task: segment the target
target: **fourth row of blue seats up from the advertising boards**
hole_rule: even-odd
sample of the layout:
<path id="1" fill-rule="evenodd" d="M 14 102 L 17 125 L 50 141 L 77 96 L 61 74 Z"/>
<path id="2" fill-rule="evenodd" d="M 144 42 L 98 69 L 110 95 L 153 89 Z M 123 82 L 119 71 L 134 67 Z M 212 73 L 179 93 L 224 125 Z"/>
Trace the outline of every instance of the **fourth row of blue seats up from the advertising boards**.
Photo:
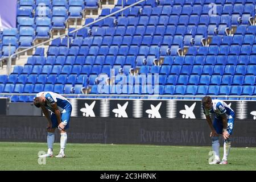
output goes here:
<path id="1" fill-rule="evenodd" d="M 114 64 L 118 65 L 135 65 L 136 64 L 141 64 L 145 63 L 146 65 L 153 64 L 154 61 L 156 60 L 154 55 L 149 55 L 149 56 L 139 56 L 139 59 L 135 59 L 134 55 L 97 55 L 97 56 L 83 56 L 83 55 L 59 55 L 59 56 L 48 56 L 47 59 L 44 56 L 31 56 L 27 60 L 27 65 L 53 65 L 53 64 L 60 64 L 60 65 L 83 65 L 83 64 L 88 64 L 88 65 L 93 65 L 93 64 L 98 64 L 98 65 L 103 65 L 103 64 L 109 64 L 113 66 Z M 247 65 L 247 64 L 255 64 L 255 58 L 256 55 L 241 55 L 241 56 L 236 56 L 236 55 L 186 55 L 186 56 L 166 56 L 164 58 L 164 63 L 165 65 L 183 65 L 183 64 L 200 64 L 200 65 Z"/>

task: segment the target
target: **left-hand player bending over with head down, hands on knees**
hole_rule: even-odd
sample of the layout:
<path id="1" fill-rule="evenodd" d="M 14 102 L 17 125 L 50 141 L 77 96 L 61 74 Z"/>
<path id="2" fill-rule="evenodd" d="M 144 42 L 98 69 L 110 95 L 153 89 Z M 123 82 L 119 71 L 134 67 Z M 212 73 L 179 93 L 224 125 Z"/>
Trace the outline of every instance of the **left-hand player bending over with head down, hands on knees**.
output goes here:
<path id="1" fill-rule="evenodd" d="M 71 117 L 72 105 L 63 96 L 53 92 L 40 92 L 36 94 L 34 98 L 34 105 L 36 107 L 41 107 L 44 115 L 48 120 L 47 126 L 47 144 L 48 151 L 45 155 L 40 155 L 39 157 L 52 157 L 53 156 L 53 143 L 54 143 L 54 133 L 56 127 L 60 130 L 60 152 L 56 155 L 56 158 L 64 158 L 64 149 L 67 143 L 67 132 L 69 127 L 69 119 Z M 51 115 L 49 111 L 51 111 Z"/>

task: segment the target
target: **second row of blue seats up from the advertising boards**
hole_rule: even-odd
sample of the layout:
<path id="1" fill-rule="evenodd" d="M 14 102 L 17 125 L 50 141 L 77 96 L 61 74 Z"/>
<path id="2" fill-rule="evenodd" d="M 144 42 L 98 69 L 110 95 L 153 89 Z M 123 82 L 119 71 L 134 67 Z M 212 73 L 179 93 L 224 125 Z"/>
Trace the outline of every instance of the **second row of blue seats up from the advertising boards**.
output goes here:
<path id="1" fill-rule="evenodd" d="M 104 69 L 104 68 L 103 68 Z M 152 67 L 152 70 L 159 69 Z M 255 68 L 254 68 L 255 69 Z M 141 69 L 142 70 L 142 69 Z M 165 68 L 160 69 L 160 75 L 151 75 L 152 79 L 154 78 L 155 81 L 152 82 L 152 85 L 155 85 L 156 79 L 159 79 L 157 81 L 157 84 L 160 85 L 166 85 L 166 84 L 172 84 L 172 85 L 254 85 L 255 84 L 255 76 L 253 73 L 242 75 L 240 73 L 235 73 L 234 75 L 231 75 L 230 73 L 225 73 L 224 75 L 219 75 L 218 73 L 213 75 L 208 75 L 208 73 L 203 73 L 202 75 L 197 75 L 197 73 L 191 73 L 191 75 L 186 75 L 185 73 L 180 73 L 177 75 L 176 73 L 170 73 L 170 75 L 164 72 Z M 153 72 L 153 71 L 152 71 Z M 144 78 L 146 75 L 149 75 L 146 72 L 141 71 L 141 77 Z M 144 75 L 143 75 L 144 74 Z M 152 73 L 153 74 L 153 73 Z M 89 76 L 89 77 L 88 77 Z M 50 73 L 47 75 L 47 73 L 21 73 L 20 75 L 12 73 L 9 77 L 6 75 L 0 76 L 0 83 L 1 84 L 16 84 L 16 83 L 68 83 L 73 84 L 80 83 L 84 86 L 89 85 L 96 85 L 98 82 L 96 81 L 96 78 L 99 77 L 97 73 L 87 74 L 87 73 L 60 73 L 60 75 L 57 75 L 56 73 Z M 105 77 L 109 77 L 110 75 L 102 75 Z M 114 76 L 114 74 L 113 74 Z M 118 76 L 126 76 L 129 75 L 121 75 Z M 140 76 L 137 76 L 140 78 Z M 130 78 L 137 79 L 136 76 L 130 75 Z M 148 79 L 151 79 L 148 78 Z M 117 80 L 118 81 L 118 80 Z"/>

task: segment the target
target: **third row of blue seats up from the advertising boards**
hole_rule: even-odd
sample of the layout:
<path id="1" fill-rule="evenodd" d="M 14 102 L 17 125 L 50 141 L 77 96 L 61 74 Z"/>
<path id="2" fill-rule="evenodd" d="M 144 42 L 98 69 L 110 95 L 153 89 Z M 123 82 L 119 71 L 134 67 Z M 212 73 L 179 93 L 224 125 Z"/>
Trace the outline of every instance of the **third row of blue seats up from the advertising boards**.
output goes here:
<path id="1" fill-rule="evenodd" d="M 164 75 L 169 75 L 169 74 L 185 74 L 185 75 L 191 75 L 191 74 L 207 74 L 207 75 L 213 75 L 213 74 L 218 74 L 218 75 L 247 75 L 247 74 L 255 74 L 256 75 L 256 64 L 248 64 L 248 65 L 232 65 L 232 64 L 226 64 L 226 65 L 209 65 L 205 64 L 203 65 L 189 65 L 189 64 L 183 64 L 183 65 L 168 65 L 164 64 L 162 66 L 157 66 L 157 65 L 142 65 L 143 63 L 136 63 L 136 67 L 140 68 L 139 73 L 160 73 Z M 54 65 L 47 65 L 45 64 L 44 66 L 42 65 L 29 65 L 26 64 L 24 65 L 24 68 L 21 73 L 26 73 L 26 74 L 39 74 L 39 73 L 46 73 L 49 75 L 50 73 L 54 73 L 56 75 L 60 75 L 61 73 L 64 74 L 80 74 L 84 73 L 87 75 L 90 74 L 100 74 L 100 73 L 106 73 L 108 76 L 110 76 L 110 73 L 112 69 L 114 69 L 114 74 L 117 75 L 120 73 L 120 69 L 122 68 L 122 72 L 125 73 L 125 75 L 130 74 L 130 69 L 134 68 L 134 65 L 131 64 L 84 64 L 84 65 L 79 65 L 79 64 L 74 64 L 72 65 L 60 65 L 60 64 L 54 64 Z M 16 71 L 14 71 L 16 73 Z M 17 73 L 18 74 L 18 73 Z"/>

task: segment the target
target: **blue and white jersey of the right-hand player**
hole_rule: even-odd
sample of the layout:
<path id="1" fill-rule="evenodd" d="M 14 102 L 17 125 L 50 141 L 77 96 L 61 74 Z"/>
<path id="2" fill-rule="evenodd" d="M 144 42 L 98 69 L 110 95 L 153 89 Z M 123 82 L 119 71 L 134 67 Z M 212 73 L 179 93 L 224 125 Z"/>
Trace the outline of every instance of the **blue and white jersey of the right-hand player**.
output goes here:
<path id="1" fill-rule="evenodd" d="M 229 107 L 224 101 L 221 100 L 212 100 L 212 109 L 207 110 L 203 107 L 204 114 L 209 115 L 210 113 L 215 113 L 215 117 L 221 119 L 221 114 L 226 114 L 226 118 L 234 118 L 235 113 L 231 107 Z"/>

